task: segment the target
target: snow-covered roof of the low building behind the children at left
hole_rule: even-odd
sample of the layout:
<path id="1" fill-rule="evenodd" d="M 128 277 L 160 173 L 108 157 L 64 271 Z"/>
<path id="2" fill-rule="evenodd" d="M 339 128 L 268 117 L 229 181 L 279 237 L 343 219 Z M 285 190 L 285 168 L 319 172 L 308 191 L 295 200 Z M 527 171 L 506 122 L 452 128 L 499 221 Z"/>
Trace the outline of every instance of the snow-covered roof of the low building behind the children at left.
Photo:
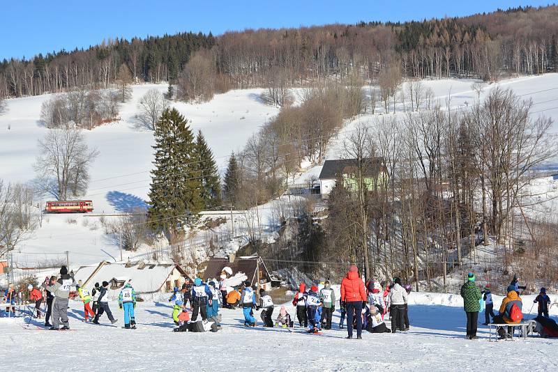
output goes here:
<path id="1" fill-rule="evenodd" d="M 128 267 L 129 266 L 129 267 Z M 165 281 L 172 274 L 172 270 L 178 270 L 181 276 L 187 277 L 186 272 L 179 265 L 174 264 L 142 264 L 135 263 L 126 265 L 124 263 L 108 263 L 106 261 L 99 265 L 84 266 L 75 272 L 75 280 L 82 280 L 84 285 L 91 287 L 96 282 L 131 281 L 137 293 L 154 293 L 165 285 Z"/>

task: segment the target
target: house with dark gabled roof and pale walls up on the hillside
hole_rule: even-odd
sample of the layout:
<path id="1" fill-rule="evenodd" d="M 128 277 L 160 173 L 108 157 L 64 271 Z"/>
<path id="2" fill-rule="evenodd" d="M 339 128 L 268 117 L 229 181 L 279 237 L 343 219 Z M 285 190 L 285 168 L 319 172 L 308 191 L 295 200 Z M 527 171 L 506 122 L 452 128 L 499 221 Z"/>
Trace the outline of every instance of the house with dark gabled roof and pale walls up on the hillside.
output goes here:
<path id="1" fill-rule="evenodd" d="M 362 169 L 364 172 L 364 183 L 369 191 L 375 189 L 378 181 L 386 177 L 386 166 L 383 157 L 372 157 L 363 161 L 359 166 L 356 159 L 337 159 L 326 160 L 322 171 L 319 173 L 319 186 L 322 197 L 326 198 L 338 178 L 345 183 L 345 187 L 350 191 L 356 191 L 358 184 L 356 182 L 356 174 Z"/>

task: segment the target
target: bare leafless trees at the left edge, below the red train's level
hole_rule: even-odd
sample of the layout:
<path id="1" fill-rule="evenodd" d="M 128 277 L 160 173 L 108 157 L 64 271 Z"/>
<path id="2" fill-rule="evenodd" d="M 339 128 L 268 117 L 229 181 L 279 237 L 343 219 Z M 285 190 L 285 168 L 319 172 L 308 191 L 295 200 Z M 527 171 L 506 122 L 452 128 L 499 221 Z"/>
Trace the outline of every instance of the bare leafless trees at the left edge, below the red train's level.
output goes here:
<path id="1" fill-rule="evenodd" d="M 3 183 L 0 179 L 0 257 L 31 236 L 38 226 L 33 190 L 26 185 Z"/>

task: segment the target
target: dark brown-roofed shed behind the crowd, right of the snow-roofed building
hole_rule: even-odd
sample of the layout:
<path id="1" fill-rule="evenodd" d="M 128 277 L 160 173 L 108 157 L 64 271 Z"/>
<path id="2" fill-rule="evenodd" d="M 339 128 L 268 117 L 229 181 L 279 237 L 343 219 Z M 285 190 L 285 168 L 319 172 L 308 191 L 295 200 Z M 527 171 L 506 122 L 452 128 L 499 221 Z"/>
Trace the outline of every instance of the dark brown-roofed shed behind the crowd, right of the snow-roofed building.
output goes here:
<path id="1" fill-rule="evenodd" d="M 267 270 L 264 260 L 260 256 L 241 256 L 235 258 L 234 255 L 228 258 L 210 258 L 207 263 L 207 268 L 204 272 L 204 281 L 209 279 L 218 279 L 223 268 L 231 268 L 232 275 L 241 272 L 246 274 L 248 281 L 252 286 L 257 284 L 258 270 L 259 270 L 259 286 L 264 290 L 271 290 L 271 274 Z"/>

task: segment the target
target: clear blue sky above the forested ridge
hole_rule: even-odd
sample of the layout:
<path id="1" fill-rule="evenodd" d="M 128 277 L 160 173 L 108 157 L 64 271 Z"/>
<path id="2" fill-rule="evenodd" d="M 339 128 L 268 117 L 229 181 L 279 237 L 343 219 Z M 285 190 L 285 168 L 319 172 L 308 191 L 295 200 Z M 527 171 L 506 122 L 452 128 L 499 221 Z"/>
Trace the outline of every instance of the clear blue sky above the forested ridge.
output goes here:
<path id="1" fill-rule="evenodd" d="M 469 15 L 550 1 L 518 0 L 6 0 L 0 21 L 0 59 L 89 47 L 104 38 L 179 31 L 311 26 L 422 20 Z"/>

